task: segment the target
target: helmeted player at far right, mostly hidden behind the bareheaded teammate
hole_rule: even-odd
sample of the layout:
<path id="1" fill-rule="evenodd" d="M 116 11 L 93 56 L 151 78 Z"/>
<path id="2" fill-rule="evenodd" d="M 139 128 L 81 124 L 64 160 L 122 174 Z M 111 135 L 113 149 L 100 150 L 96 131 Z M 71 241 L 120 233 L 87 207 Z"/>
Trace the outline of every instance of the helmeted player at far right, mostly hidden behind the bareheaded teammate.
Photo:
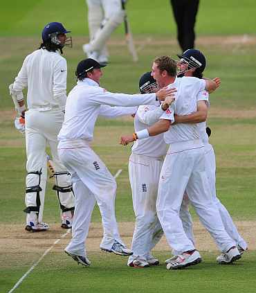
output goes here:
<path id="1" fill-rule="evenodd" d="M 194 76 L 196 78 L 203 78 L 203 71 L 205 69 L 206 60 L 205 56 L 201 51 L 196 49 L 189 49 L 185 51 L 183 54 L 179 54 L 178 57 L 180 58 L 178 62 L 179 66 L 179 76 Z M 214 79 L 217 80 L 217 79 Z M 217 80 L 217 82 L 219 82 Z M 208 96 L 207 91 L 202 91 L 201 95 Z M 200 100 L 200 96 L 197 97 L 198 100 Z M 176 123 L 197 123 L 198 119 L 200 118 L 201 112 L 197 111 L 190 115 L 185 116 L 178 116 L 174 115 L 175 122 Z M 205 171 L 208 176 L 208 181 L 210 184 L 210 190 L 212 194 L 212 201 L 219 209 L 219 213 L 221 215 L 221 220 L 223 222 L 223 225 L 226 229 L 226 232 L 232 238 L 235 240 L 237 248 L 239 250 L 240 254 L 243 254 L 244 251 L 247 250 L 247 243 L 246 241 L 239 235 L 239 232 L 237 231 L 237 227 L 235 227 L 234 222 L 232 221 L 232 217 L 228 213 L 227 209 L 216 195 L 216 160 L 215 160 L 215 154 L 214 149 L 212 148 L 212 145 L 209 143 L 209 137 L 206 133 L 206 123 L 202 122 L 199 123 L 199 135 L 201 140 L 203 141 L 203 145 L 205 148 Z M 186 210 L 188 211 L 188 210 Z M 192 225 L 190 225 L 190 235 L 192 235 Z M 168 260 L 167 260 L 168 262 Z M 226 264 L 226 254 L 221 254 L 217 257 L 217 262 L 220 264 Z"/>

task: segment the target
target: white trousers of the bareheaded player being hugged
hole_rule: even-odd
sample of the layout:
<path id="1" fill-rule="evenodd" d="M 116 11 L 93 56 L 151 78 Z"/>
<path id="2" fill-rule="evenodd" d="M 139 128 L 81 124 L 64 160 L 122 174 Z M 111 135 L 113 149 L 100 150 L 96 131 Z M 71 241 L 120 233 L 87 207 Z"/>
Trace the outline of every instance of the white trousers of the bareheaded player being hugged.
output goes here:
<path id="1" fill-rule="evenodd" d="M 235 245 L 235 241 L 226 233 L 219 211 L 212 202 L 203 147 L 168 152 L 160 175 L 156 202 L 158 218 L 170 247 L 174 251 L 182 252 L 194 249 L 193 242 L 185 235 L 179 217 L 185 191 L 219 249 L 228 251 Z"/>

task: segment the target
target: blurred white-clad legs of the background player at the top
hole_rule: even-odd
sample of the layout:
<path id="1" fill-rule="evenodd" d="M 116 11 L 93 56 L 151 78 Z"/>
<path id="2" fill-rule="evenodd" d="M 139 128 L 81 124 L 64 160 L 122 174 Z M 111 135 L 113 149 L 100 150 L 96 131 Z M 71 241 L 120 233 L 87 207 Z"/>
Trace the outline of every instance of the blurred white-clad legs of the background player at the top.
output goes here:
<path id="1" fill-rule="evenodd" d="M 106 42 L 124 20 L 125 10 L 122 10 L 121 0 L 86 0 L 86 3 L 90 42 L 82 46 L 83 51 L 88 58 L 107 64 L 109 53 Z"/>

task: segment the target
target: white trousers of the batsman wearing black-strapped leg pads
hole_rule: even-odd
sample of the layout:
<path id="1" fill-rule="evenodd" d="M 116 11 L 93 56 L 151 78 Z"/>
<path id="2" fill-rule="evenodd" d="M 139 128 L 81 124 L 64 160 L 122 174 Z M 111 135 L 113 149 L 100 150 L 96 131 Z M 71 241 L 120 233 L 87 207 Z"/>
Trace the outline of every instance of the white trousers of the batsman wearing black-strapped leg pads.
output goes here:
<path id="1" fill-rule="evenodd" d="M 57 134 L 60 132 L 64 114 L 60 110 L 38 111 L 29 109 L 26 112 L 26 155 L 27 155 L 27 172 L 42 172 L 39 177 L 37 174 L 28 174 L 26 177 L 26 187 L 40 186 L 42 191 L 39 193 L 39 222 L 42 222 L 44 211 L 44 197 L 46 190 L 47 167 L 46 167 L 46 146 L 51 148 L 51 155 L 55 172 L 66 172 L 57 154 Z M 39 182 L 40 180 L 40 182 Z M 60 176 L 58 185 L 66 187 L 71 185 L 71 178 L 68 175 Z M 37 193 L 26 193 L 26 206 L 38 206 Z M 73 193 L 60 193 L 60 204 L 66 208 L 74 206 Z"/>

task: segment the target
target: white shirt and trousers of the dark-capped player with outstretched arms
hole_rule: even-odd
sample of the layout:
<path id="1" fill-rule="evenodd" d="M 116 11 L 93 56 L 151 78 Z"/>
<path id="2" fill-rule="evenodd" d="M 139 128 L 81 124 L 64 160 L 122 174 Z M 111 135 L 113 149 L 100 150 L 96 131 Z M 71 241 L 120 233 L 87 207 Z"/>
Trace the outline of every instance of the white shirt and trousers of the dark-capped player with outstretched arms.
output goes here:
<path id="1" fill-rule="evenodd" d="M 113 94 L 85 78 L 68 94 L 58 152 L 68 171 L 75 193 L 72 240 L 66 247 L 85 256 L 84 240 L 89 231 L 91 213 L 97 202 L 102 216 L 103 239 L 100 248 L 110 250 L 114 240 L 122 245 L 115 216 L 116 180 L 90 147 L 95 121 L 101 105 L 138 106 L 154 104 L 155 94 Z"/>

